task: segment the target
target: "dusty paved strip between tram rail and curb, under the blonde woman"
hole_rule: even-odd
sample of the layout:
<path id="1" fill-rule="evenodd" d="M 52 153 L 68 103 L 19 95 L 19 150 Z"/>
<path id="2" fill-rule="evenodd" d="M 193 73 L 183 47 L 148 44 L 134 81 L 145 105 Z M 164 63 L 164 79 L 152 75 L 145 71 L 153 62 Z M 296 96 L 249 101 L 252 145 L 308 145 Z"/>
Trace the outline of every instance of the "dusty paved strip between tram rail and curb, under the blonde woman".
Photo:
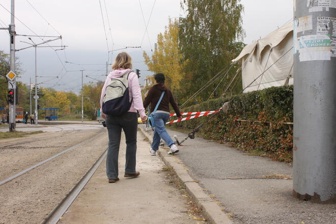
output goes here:
<path id="1" fill-rule="evenodd" d="M 119 152 L 119 178 L 108 183 L 105 161 L 78 195 L 59 223 L 205 223 L 189 216 L 187 198 L 169 185 L 162 171 L 164 163 L 149 154 L 149 143 L 137 135 L 138 178 L 124 178 L 125 138 Z"/>

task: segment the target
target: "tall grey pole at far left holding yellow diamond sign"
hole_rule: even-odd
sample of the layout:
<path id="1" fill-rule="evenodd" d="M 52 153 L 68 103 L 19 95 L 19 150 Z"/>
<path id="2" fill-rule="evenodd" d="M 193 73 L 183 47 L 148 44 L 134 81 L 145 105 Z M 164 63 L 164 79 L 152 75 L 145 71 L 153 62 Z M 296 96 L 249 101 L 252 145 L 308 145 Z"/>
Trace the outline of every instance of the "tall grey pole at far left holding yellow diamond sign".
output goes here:
<path id="1" fill-rule="evenodd" d="M 15 72 L 15 17 L 14 17 L 14 0 L 11 0 L 11 24 L 9 25 L 10 34 L 10 70 Z M 16 78 L 15 78 L 16 79 Z M 14 81 L 15 81 L 14 79 Z M 10 103 L 9 106 L 9 131 L 15 131 L 15 103 L 16 103 L 16 89 L 14 91 L 14 103 Z"/>

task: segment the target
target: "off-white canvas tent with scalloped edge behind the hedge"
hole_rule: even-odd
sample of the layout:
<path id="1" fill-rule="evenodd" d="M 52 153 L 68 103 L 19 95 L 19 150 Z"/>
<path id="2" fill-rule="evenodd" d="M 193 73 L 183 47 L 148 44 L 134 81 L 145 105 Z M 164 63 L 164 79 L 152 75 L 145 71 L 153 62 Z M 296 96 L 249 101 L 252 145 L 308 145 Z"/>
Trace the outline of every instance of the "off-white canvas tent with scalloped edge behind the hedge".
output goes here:
<path id="1" fill-rule="evenodd" d="M 293 84 L 293 23 L 245 46 L 232 62 L 241 63 L 244 93 Z"/>

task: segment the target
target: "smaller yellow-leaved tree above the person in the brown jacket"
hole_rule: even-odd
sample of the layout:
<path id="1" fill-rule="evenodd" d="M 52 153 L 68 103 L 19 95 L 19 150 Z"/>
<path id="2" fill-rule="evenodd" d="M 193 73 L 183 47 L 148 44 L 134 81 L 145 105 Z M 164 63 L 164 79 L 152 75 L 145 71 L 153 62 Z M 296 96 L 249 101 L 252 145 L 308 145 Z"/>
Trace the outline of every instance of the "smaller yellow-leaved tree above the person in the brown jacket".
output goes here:
<path id="1" fill-rule="evenodd" d="M 178 20 L 169 19 L 169 24 L 165 26 L 163 34 L 157 36 L 157 48 L 150 58 L 144 51 L 145 63 L 149 70 L 155 73 L 164 73 L 166 86 L 174 92 L 180 90 L 181 80 L 184 76 L 181 63 L 182 54 L 178 48 Z"/>

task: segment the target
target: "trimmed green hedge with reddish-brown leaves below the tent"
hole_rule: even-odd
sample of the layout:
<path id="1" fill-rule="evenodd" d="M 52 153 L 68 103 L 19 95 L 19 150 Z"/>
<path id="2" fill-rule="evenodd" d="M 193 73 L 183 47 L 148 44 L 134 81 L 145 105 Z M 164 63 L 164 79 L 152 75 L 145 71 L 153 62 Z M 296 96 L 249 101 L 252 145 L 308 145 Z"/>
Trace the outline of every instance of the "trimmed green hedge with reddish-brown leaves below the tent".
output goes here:
<path id="1" fill-rule="evenodd" d="M 230 102 L 228 113 L 221 112 L 205 124 L 200 132 L 203 137 L 232 143 L 240 150 L 264 153 L 279 161 L 292 161 L 293 126 L 284 123 L 293 122 L 293 86 L 217 98 L 183 108 L 183 112 L 214 110 L 225 102 Z M 192 119 L 175 126 L 193 129 L 206 119 Z"/>

